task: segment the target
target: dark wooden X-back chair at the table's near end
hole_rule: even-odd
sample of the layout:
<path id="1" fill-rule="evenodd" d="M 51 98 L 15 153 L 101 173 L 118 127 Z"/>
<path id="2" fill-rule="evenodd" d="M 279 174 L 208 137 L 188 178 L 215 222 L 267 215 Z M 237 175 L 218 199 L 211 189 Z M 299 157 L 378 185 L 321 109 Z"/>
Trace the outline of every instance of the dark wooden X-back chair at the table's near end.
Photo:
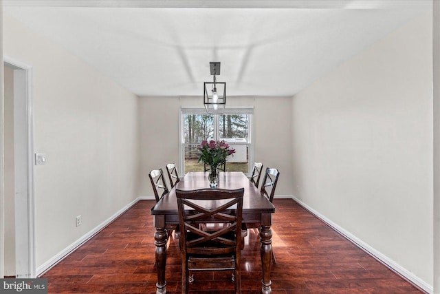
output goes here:
<path id="1" fill-rule="evenodd" d="M 190 271 L 232 271 L 235 293 L 241 293 L 241 232 L 244 188 L 176 189 L 181 229 L 181 293 L 189 291 Z M 221 222 L 212 231 L 199 224 Z"/>

